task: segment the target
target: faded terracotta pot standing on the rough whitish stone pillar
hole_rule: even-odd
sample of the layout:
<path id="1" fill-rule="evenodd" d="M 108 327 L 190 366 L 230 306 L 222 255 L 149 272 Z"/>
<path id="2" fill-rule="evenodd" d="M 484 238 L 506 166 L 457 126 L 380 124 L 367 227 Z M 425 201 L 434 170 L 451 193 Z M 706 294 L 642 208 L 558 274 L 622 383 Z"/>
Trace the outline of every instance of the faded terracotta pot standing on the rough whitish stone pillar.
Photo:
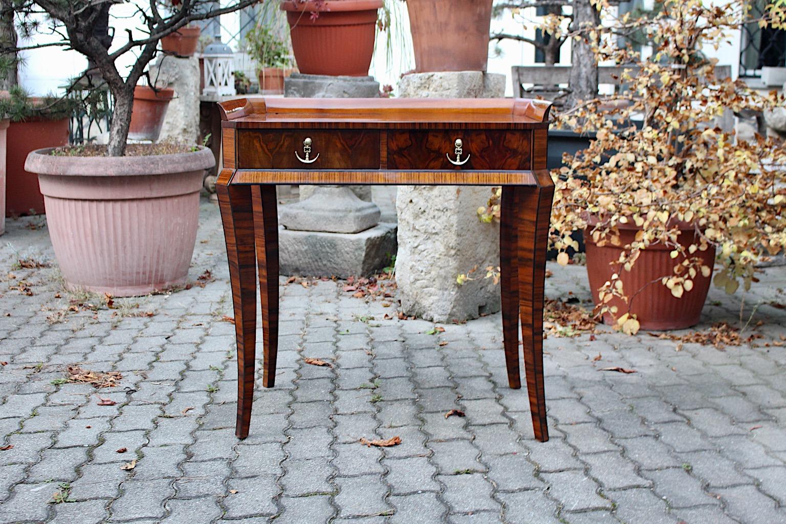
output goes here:
<path id="1" fill-rule="evenodd" d="M 493 0 L 407 0 L 415 70 L 486 71 Z"/>

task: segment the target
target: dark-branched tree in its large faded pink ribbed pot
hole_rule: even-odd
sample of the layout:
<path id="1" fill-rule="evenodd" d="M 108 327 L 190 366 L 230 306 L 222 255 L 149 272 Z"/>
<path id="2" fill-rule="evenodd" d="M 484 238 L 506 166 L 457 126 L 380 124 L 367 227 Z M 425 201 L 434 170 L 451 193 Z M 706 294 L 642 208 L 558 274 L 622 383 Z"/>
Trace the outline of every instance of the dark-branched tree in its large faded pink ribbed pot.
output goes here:
<path id="1" fill-rule="evenodd" d="M 145 30 L 117 31 L 123 40 L 116 45 L 108 28 L 111 2 L 88 8 L 79 0 L 16 6 L 23 21 L 45 12 L 46 23 L 31 25 L 31 31 L 64 35 L 61 44 L 86 55 L 114 100 L 107 145 L 42 148 L 25 163 L 39 175 L 55 257 L 68 287 L 126 296 L 185 281 L 202 178 L 215 159 L 197 145 L 127 145 L 134 92 L 160 38 L 255 3 L 237 0 L 215 9 L 212 2 L 196 0 L 164 13 L 156 9 L 157 0 L 149 0 L 138 5 L 152 13 Z M 127 53 L 130 67 L 129 60 L 119 60 Z"/>

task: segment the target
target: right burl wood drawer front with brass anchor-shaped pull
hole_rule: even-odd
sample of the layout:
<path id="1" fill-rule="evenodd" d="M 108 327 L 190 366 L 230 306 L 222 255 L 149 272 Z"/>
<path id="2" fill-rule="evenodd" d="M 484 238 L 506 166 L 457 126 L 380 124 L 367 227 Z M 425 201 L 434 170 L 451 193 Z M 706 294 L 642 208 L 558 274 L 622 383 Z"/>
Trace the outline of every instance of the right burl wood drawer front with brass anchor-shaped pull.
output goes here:
<path id="1" fill-rule="evenodd" d="M 390 131 L 389 169 L 529 170 L 531 132 L 497 130 Z"/>

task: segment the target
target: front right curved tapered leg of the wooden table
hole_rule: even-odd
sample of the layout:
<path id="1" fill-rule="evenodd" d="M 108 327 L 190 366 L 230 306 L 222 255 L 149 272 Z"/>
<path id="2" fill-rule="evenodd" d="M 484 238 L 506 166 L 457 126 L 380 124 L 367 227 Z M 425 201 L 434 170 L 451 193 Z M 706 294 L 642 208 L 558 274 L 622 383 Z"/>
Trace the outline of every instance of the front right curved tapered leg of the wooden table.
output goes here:
<path id="1" fill-rule="evenodd" d="M 554 185 L 548 171 L 535 171 L 538 187 L 521 190 L 519 220 L 519 294 L 524 369 L 535 438 L 549 440 L 543 384 L 543 288 L 545 253 Z"/>

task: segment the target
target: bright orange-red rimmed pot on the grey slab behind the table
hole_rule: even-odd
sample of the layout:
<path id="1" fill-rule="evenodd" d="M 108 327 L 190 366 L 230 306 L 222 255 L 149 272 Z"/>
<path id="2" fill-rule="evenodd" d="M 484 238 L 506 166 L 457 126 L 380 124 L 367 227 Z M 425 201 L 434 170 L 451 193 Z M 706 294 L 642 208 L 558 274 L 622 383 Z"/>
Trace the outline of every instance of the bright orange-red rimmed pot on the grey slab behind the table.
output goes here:
<path id="1" fill-rule="evenodd" d="M 306 75 L 369 74 L 382 0 L 283 0 L 298 69 Z M 318 12 L 316 19 L 312 12 Z M 488 35 L 487 35 L 488 37 Z"/>

